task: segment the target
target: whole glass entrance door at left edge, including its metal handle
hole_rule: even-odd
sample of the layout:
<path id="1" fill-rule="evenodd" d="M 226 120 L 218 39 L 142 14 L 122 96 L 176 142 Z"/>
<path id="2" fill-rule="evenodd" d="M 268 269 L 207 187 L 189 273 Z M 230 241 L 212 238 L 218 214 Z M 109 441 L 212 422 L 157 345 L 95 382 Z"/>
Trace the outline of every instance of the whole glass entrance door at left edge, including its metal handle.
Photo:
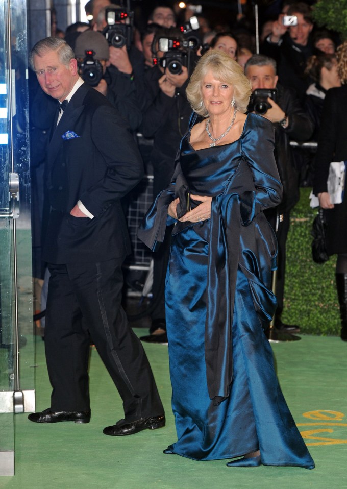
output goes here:
<path id="1" fill-rule="evenodd" d="M 34 408 L 28 133 L 26 0 L 0 0 L 0 475 L 14 414 Z"/>

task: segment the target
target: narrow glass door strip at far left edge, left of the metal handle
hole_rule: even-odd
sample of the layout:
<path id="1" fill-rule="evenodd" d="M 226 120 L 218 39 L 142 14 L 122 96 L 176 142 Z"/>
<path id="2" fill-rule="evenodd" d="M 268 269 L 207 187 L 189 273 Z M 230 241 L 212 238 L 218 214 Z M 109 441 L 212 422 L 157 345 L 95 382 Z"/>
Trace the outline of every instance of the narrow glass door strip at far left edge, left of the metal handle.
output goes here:
<path id="1" fill-rule="evenodd" d="M 8 4 L 0 0 L 0 468 L 14 472 L 13 226 L 10 219 Z M 11 141 L 10 141 L 11 142 Z"/>

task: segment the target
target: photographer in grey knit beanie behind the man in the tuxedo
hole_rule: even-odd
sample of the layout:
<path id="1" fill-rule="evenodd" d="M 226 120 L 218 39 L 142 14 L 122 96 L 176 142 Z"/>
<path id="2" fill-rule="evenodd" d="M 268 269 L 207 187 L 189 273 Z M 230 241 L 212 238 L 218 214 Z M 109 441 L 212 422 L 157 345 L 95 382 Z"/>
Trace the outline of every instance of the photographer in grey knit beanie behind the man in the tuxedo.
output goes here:
<path id="1" fill-rule="evenodd" d="M 86 55 L 86 51 L 93 54 Z M 109 66 L 109 45 L 100 32 L 85 31 L 76 40 L 75 55 L 81 77 L 95 90 L 106 96 L 107 100 L 127 119 L 132 131 L 141 122 L 135 86 L 127 81 L 116 85 L 107 76 Z M 111 83 L 111 85 L 109 83 Z"/>

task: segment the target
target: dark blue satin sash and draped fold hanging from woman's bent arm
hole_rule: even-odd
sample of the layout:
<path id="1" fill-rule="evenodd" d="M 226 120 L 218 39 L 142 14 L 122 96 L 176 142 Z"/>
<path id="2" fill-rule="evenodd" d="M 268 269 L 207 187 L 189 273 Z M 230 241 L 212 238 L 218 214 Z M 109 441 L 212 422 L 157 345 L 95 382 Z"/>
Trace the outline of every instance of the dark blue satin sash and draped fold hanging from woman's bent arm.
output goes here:
<path id="1" fill-rule="evenodd" d="M 235 187 L 242 193 L 235 193 Z M 257 209 L 259 213 L 259 206 Z M 263 308 L 263 316 L 270 321 L 276 309 L 276 298 L 269 289 L 270 275 L 263 273 L 276 266 L 276 238 L 271 236 L 266 219 L 267 236 L 256 223 L 254 229 L 246 229 L 256 215 L 256 189 L 252 174 L 246 161 L 241 160 L 226 194 L 213 198 L 211 206 L 205 360 L 209 396 L 216 405 L 229 396 L 233 379 L 231 331 L 239 266 L 249 279 L 255 310 L 260 312 Z M 259 215 L 259 219 L 263 217 L 263 214 Z M 242 239 L 243 235 L 247 235 L 246 240 Z M 266 253 L 260 256 L 258 245 L 262 241 L 261 251 L 265 249 Z M 241 242 L 243 247 L 240 248 Z M 268 243 L 272 243 L 271 250 Z M 258 266 L 261 261 L 262 265 Z"/>

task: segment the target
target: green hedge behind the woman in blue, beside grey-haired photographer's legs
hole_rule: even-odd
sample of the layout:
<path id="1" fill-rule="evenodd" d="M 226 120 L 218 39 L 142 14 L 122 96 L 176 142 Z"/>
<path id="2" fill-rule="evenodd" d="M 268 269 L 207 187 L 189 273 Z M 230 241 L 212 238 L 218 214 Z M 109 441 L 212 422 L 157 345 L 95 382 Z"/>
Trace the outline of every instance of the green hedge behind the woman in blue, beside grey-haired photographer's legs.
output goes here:
<path id="1" fill-rule="evenodd" d="M 317 211 L 310 208 L 310 191 L 301 188 L 300 201 L 291 211 L 282 320 L 298 324 L 302 333 L 339 335 L 336 256 L 324 264 L 312 260 L 310 232 Z"/>

